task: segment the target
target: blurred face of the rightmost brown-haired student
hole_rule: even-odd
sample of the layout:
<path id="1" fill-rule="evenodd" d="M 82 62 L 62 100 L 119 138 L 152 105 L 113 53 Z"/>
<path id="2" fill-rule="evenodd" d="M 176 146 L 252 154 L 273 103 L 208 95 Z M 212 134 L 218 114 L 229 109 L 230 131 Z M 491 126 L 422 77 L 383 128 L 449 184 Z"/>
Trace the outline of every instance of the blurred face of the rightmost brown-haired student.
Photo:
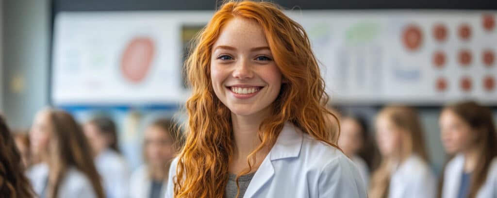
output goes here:
<path id="1" fill-rule="evenodd" d="M 445 151 L 449 154 L 464 152 L 475 145 L 477 132 L 459 115 L 450 109 L 444 109 L 440 114 L 440 139 Z"/>

